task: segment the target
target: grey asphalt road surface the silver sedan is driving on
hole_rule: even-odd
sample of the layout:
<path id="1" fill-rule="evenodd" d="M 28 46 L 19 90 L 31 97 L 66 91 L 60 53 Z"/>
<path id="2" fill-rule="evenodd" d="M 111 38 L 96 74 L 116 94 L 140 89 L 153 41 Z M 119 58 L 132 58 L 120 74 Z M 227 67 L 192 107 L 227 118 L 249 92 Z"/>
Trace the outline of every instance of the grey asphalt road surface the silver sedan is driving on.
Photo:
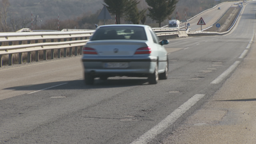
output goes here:
<path id="1" fill-rule="evenodd" d="M 1 143 L 158 143 L 200 109 L 232 70 L 223 73 L 243 61 L 255 6 L 246 6 L 228 35 L 170 40 L 169 78 L 156 85 L 113 77 L 86 86 L 81 57 L 1 68 Z"/>

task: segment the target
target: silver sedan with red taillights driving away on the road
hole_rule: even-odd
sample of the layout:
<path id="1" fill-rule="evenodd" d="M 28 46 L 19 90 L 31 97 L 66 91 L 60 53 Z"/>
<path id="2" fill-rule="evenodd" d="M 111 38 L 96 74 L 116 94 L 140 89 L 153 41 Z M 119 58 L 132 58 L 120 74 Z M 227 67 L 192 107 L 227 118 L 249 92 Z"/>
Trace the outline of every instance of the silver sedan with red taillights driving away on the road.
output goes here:
<path id="1" fill-rule="evenodd" d="M 84 82 L 96 77 L 148 77 L 149 84 L 168 78 L 168 54 L 152 28 L 118 24 L 100 26 L 83 47 Z"/>

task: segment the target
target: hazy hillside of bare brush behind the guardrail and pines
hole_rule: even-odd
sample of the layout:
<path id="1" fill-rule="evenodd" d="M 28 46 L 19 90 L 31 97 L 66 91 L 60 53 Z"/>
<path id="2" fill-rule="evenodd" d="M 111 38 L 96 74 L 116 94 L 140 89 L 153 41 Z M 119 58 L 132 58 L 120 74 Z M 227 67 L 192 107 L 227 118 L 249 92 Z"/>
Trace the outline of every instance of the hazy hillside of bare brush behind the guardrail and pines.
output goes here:
<path id="1" fill-rule="evenodd" d="M 114 0 L 0 0 L 0 32 L 31 28 L 31 12 L 33 30 L 58 30 L 58 15 L 60 15 L 60 30 L 95 29 L 95 24 L 103 24 L 103 21 L 98 20 L 97 17 L 103 4 L 108 3 L 107 1 Z M 188 20 L 225 1 L 235 0 L 181 0 L 175 5 L 174 12 L 168 14 L 168 17 L 161 21 L 161 26 L 168 24 L 170 19 L 176 19 L 176 11 L 178 11 L 178 19 L 184 21 L 185 12 Z M 136 6 L 132 5 L 133 7 L 129 9 L 134 10 L 132 11 L 134 13 L 129 13 L 129 15 L 123 13 L 124 15 L 120 19 L 118 18 L 118 22 L 120 24 L 147 24 L 152 27 L 159 27 L 159 20 L 152 18 L 152 15 L 149 16 L 150 10 L 148 10 L 149 4 L 147 2 L 149 1 L 136 0 Z M 106 24 L 115 24 L 115 14 L 111 14 L 112 19 L 106 20 Z"/>

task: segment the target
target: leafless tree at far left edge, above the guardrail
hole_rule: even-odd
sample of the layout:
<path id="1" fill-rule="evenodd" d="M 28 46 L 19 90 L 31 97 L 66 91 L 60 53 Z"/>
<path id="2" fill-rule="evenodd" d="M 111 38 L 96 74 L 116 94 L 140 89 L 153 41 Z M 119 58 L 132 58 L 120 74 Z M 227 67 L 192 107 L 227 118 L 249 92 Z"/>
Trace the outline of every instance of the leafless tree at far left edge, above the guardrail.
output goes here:
<path id="1" fill-rule="evenodd" d="M 8 8 L 10 6 L 9 0 L 1 0 L 0 6 L 0 21 L 1 21 L 1 29 L 4 32 L 7 32 L 7 17 L 8 17 Z"/>

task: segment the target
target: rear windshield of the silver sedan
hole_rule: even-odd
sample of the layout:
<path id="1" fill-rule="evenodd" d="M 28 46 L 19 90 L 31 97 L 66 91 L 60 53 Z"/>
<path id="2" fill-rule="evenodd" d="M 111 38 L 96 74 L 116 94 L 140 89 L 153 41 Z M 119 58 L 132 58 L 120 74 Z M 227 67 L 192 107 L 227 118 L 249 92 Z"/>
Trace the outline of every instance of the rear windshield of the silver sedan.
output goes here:
<path id="1" fill-rule="evenodd" d="M 108 26 L 97 29 L 91 40 L 147 40 L 147 36 L 143 27 Z"/>

